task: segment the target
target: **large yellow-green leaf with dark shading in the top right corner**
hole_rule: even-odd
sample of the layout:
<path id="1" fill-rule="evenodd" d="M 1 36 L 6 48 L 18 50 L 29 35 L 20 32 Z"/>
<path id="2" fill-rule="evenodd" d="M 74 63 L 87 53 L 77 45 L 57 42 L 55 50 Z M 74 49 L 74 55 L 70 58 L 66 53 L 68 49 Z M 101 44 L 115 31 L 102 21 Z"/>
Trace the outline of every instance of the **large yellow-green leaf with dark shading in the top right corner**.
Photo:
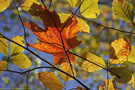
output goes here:
<path id="1" fill-rule="evenodd" d="M 133 22 L 134 8 L 125 0 L 114 0 L 112 4 L 113 13 L 121 20 Z"/>

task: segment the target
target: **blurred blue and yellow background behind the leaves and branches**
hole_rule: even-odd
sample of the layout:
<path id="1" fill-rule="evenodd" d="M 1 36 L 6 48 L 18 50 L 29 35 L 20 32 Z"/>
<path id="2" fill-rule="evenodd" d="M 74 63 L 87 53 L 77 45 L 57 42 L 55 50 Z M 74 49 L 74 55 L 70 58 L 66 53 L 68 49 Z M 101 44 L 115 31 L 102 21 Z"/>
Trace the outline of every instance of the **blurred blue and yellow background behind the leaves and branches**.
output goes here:
<path id="1" fill-rule="evenodd" d="M 25 0 L 15 0 L 16 5 L 21 5 Z M 41 2 L 40 0 L 37 0 Z M 50 6 L 49 10 L 53 11 L 55 10 L 58 13 L 72 13 L 74 12 L 79 4 L 80 0 L 78 0 L 78 4 L 76 8 L 73 10 L 72 7 L 69 5 L 67 0 L 44 0 L 44 3 L 47 7 Z M 126 23 L 120 19 L 118 19 L 116 16 L 113 15 L 112 12 L 112 1 L 113 0 L 99 0 L 99 8 L 100 8 L 100 15 L 96 19 L 87 19 L 85 20 L 89 27 L 90 27 L 90 33 L 81 33 L 79 32 L 79 35 L 77 37 L 78 40 L 82 41 L 82 43 L 77 46 L 76 48 L 72 49 L 71 51 L 82 55 L 85 51 L 91 51 L 99 56 L 101 56 L 104 61 L 107 63 L 109 62 L 109 48 L 111 42 L 113 42 L 115 39 L 118 38 L 126 38 L 130 41 L 131 45 L 135 45 L 135 35 L 134 34 L 128 34 L 123 33 L 119 31 L 115 31 L 112 29 L 105 29 L 102 33 L 104 27 L 94 24 L 89 21 L 93 21 L 108 27 L 113 27 L 117 29 L 121 29 L 123 31 L 128 32 L 135 32 L 135 27 L 131 23 Z M 128 0 L 135 8 L 135 0 Z M 21 18 L 24 22 L 29 22 L 30 20 L 35 22 L 37 25 L 39 25 L 42 28 L 44 27 L 43 22 L 39 17 L 34 17 L 29 15 L 27 12 L 23 11 L 21 7 L 18 8 L 19 13 L 21 15 Z M 71 12 L 72 11 L 72 12 Z M 76 13 L 76 15 L 80 15 L 79 12 Z M 63 16 L 64 17 L 64 16 Z M 135 23 L 135 20 L 134 20 Z M 26 28 L 26 27 L 25 27 Z M 0 13 L 0 33 L 5 35 L 6 37 L 12 39 L 14 36 L 24 36 L 23 33 L 23 27 L 21 25 L 20 19 L 18 17 L 17 10 L 11 0 L 11 4 L 8 9 L 6 9 L 4 12 Z M 101 35 L 100 35 L 101 33 Z M 31 33 L 31 31 L 26 28 L 26 38 L 27 41 L 31 44 L 35 42 L 39 42 L 37 40 L 37 37 Z M 10 44 L 10 42 L 9 42 Z M 34 48 L 29 47 L 33 52 L 36 52 L 39 56 L 43 57 L 45 60 L 48 60 L 49 62 L 53 63 L 53 56 L 50 54 L 47 54 L 45 52 L 41 52 L 39 50 L 36 50 Z M 32 66 L 29 69 L 32 69 L 34 67 L 40 67 L 40 66 L 48 66 L 45 62 L 42 62 L 39 58 L 32 55 L 30 52 L 25 50 L 23 52 L 26 54 L 30 60 L 32 61 Z M 2 60 L 6 60 L 7 58 L 0 53 L 0 58 Z M 92 90 L 97 90 L 99 88 L 99 85 L 103 84 L 104 80 L 107 79 L 107 71 L 105 70 L 99 70 L 97 72 L 86 72 L 81 70 L 79 67 L 79 62 L 81 61 L 80 58 L 77 58 L 77 64 L 73 64 L 75 71 L 76 71 L 76 77 L 85 85 L 87 85 Z M 135 72 L 135 67 L 131 63 L 125 64 L 132 72 Z M 59 67 L 59 66 L 58 66 Z M 24 69 L 18 68 L 18 66 L 9 63 L 8 68 L 10 70 L 23 72 L 26 71 Z M 31 88 L 31 90 L 47 90 L 39 81 L 37 73 L 42 71 L 52 71 L 57 74 L 57 76 L 60 77 L 63 85 L 65 85 L 64 80 L 61 78 L 58 71 L 54 69 L 37 69 L 34 71 L 31 71 L 29 73 L 29 78 L 27 79 L 27 73 L 20 75 L 12 72 L 3 72 L 0 74 L 0 88 L 9 88 L 13 90 L 18 90 L 18 88 L 24 89 L 27 86 L 27 80 L 28 85 Z M 109 76 L 109 79 L 112 77 Z M 68 81 L 66 83 L 66 89 L 72 89 L 77 88 L 77 86 L 81 86 L 79 83 L 77 83 L 75 80 Z M 132 90 L 132 86 L 129 84 L 119 84 L 117 83 L 118 90 Z"/>

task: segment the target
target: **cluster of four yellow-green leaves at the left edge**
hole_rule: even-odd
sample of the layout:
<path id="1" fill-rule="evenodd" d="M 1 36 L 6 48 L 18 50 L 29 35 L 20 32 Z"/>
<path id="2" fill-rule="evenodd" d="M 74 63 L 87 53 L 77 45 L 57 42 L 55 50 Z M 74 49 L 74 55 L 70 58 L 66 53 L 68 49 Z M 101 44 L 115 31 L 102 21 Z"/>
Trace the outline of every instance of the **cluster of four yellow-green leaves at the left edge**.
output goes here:
<path id="1" fill-rule="evenodd" d="M 16 36 L 13 37 L 12 41 L 17 42 L 18 44 L 24 46 L 24 40 L 22 36 Z M 10 43 L 10 55 L 12 56 L 11 62 L 17 65 L 21 69 L 27 69 L 29 68 L 32 64 L 29 58 L 22 54 L 24 51 L 24 48 L 20 47 L 19 45 L 16 45 L 15 43 L 11 42 Z M 8 42 L 7 39 L 4 39 L 2 36 L 0 36 L 0 52 L 3 53 L 6 57 L 9 56 L 9 47 L 8 47 Z M 0 61 L 0 70 L 2 73 L 6 67 L 7 67 L 8 62 L 7 61 Z"/>

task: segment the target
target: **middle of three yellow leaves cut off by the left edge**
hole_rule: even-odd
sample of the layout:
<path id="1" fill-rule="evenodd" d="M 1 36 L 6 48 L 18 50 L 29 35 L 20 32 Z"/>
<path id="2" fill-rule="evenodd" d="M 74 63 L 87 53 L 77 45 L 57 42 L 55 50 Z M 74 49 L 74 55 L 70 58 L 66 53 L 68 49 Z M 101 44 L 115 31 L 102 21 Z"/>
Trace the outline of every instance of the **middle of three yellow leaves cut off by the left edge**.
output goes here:
<path id="1" fill-rule="evenodd" d="M 0 36 L 0 52 L 3 53 L 5 56 L 8 56 L 8 50 L 9 48 L 7 39 Z"/>

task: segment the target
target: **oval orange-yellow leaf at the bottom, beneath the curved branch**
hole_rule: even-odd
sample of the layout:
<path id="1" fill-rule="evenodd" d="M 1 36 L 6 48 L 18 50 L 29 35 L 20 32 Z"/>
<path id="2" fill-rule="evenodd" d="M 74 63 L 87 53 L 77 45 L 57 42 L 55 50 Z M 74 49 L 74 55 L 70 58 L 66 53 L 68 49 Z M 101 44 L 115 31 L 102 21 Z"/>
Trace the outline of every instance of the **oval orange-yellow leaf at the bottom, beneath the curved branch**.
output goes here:
<path id="1" fill-rule="evenodd" d="M 59 77 L 57 77 L 53 72 L 41 72 L 38 74 L 38 78 L 43 83 L 43 85 L 50 90 L 63 89 L 63 85 Z"/>

